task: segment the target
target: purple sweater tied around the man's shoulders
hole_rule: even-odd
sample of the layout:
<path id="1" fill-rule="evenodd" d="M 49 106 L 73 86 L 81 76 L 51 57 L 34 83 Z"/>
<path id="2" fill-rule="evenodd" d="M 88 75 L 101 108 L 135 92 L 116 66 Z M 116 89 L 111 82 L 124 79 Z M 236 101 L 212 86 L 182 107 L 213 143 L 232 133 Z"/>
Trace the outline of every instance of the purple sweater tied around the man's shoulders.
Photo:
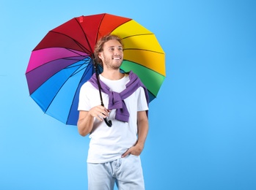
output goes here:
<path id="1" fill-rule="evenodd" d="M 139 87 L 142 86 L 142 88 L 144 89 L 145 96 L 147 99 L 147 104 L 149 103 L 149 96 L 147 94 L 147 88 L 144 86 L 144 84 L 139 79 L 139 77 L 137 75 L 135 75 L 134 72 L 131 71 L 131 72 L 129 72 L 129 79 L 130 79 L 130 81 L 126 84 L 125 90 L 123 90 L 120 93 L 117 93 L 115 91 L 110 91 L 109 87 L 106 86 L 106 84 L 100 80 L 100 86 L 102 88 L 101 90 L 103 91 L 103 93 L 109 95 L 108 109 L 109 110 L 117 109 L 115 118 L 119 121 L 124 121 L 124 122 L 128 122 L 129 116 L 130 116 L 128 109 L 125 105 L 124 99 L 126 99 L 128 96 L 131 96 L 131 94 L 133 94 L 134 91 L 136 91 Z M 94 86 L 95 88 L 98 89 L 98 82 L 97 82 L 96 74 L 93 74 L 92 77 L 88 81 L 89 81 L 89 83 L 92 84 L 92 86 Z"/>

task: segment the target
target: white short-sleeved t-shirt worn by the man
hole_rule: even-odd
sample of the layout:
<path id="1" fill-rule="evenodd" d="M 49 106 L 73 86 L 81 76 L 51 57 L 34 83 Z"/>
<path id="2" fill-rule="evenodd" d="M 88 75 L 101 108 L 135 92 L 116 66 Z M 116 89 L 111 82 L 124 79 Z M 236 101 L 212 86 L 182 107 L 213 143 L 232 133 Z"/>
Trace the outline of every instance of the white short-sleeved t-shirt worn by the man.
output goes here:
<path id="1" fill-rule="evenodd" d="M 128 75 L 120 80 L 108 80 L 100 75 L 100 80 L 109 86 L 111 91 L 120 93 L 125 89 L 125 85 L 129 82 Z M 109 96 L 102 92 L 103 103 L 108 107 Z M 105 163 L 119 159 L 122 153 L 131 148 L 137 140 L 137 112 L 148 110 L 145 91 L 142 87 L 134 91 L 131 96 L 124 99 L 128 112 L 130 114 L 128 123 L 115 120 L 116 110 L 111 110 L 109 118 L 112 126 L 106 126 L 104 121 L 95 119 L 92 132 L 89 134 L 91 138 L 89 142 L 89 152 L 87 162 L 89 163 Z M 87 82 L 81 86 L 79 94 L 78 110 L 89 111 L 92 107 L 100 104 L 100 95 L 98 89 Z"/>

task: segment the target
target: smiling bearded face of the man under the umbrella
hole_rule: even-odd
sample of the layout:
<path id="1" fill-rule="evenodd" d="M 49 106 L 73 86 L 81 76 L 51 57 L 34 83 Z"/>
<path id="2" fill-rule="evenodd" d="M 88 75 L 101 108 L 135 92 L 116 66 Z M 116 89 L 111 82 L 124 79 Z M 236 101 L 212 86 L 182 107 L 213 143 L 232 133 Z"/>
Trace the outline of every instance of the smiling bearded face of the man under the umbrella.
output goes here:
<path id="1" fill-rule="evenodd" d="M 103 51 L 99 53 L 103 67 L 108 69 L 119 69 L 122 64 L 122 45 L 116 39 L 110 39 L 103 45 Z"/>

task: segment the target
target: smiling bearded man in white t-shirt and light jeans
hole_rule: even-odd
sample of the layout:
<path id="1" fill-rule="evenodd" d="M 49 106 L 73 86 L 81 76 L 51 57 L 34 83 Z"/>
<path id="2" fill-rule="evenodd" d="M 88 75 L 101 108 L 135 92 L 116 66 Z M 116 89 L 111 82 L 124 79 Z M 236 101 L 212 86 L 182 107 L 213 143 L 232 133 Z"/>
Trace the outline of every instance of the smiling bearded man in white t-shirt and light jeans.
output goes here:
<path id="1" fill-rule="evenodd" d="M 145 189 L 139 155 L 148 132 L 148 95 L 133 72 L 121 73 L 122 41 L 107 35 L 95 46 L 95 59 L 103 66 L 100 74 L 102 98 L 95 75 L 84 83 L 79 95 L 78 132 L 89 134 L 87 173 L 89 190 Z M 134 85 L 136 83 L 136 85 Z M 106 126 L 103 118 L 112 121 Z"/>

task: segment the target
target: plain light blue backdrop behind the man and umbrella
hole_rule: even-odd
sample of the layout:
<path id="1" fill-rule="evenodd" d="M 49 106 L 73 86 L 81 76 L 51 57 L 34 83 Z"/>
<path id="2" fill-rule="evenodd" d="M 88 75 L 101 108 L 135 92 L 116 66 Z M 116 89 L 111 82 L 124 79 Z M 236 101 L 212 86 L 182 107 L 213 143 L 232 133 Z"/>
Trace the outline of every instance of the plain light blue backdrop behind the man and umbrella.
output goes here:
<path id="1" fill-rule="evenodd" d="M 25 72 L 49 30 L 107 12 L 153 31 L 166 53 L 142 153 L 146 189 L 255 190 L 255 9 L 250 0 L 1 0 L 0 189 L 87 189 L 88 137 L 40 110 Z"/>

